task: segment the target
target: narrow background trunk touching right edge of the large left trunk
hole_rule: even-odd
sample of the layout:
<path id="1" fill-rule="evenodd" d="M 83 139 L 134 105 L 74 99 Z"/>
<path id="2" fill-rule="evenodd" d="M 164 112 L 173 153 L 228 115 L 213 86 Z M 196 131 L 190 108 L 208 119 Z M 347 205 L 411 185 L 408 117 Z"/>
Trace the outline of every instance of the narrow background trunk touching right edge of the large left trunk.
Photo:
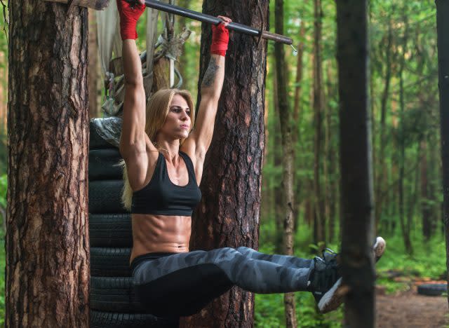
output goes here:
<path id="1" fill-rule="evenodd" d="M 98 60 L 97 23 L 95 10 L 89 9 L 89 46 L 88 46 L 88 88 L 89 88 L 89 118 L 101 116 L 98 90 L 100 86 L 100 62 Z"/>

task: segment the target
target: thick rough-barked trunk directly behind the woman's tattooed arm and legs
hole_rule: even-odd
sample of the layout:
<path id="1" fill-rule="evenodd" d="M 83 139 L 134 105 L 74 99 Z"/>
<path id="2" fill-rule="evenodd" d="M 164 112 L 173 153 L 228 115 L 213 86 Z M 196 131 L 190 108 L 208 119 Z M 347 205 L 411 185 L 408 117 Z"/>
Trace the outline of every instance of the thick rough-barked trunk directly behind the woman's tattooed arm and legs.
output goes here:
<path id="1" fill-rule="evenodd" d="M 258 9 L 260 4 L 260 11 Z M 268 1 L 203 3 L 203 13 L 226 15 L 234 22 L 267 29 Z M 199 86 L 210 59 L 211 31 L 203 25 Z M 231 33 L 226 56 L 225 84 L 206 155 L 201 182 L 203 198 L 192 226 L 192 249 L 258 248 L 260 188 L 264 151 L 264 89 L 267 44 Z M 184 327 L 253 327 L 254 295 L 232 288 Z"/>

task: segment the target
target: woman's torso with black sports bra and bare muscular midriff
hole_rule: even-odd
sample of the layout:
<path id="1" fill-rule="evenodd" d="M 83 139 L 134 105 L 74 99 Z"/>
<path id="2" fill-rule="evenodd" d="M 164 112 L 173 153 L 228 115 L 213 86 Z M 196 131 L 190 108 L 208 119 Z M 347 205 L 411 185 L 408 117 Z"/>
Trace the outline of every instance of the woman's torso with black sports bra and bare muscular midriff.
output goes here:
<path id="1" fill-rule="evenodd" d="M 147 253 L 189 251 L 192 216 L 186 206 L 178 208 L 175 201 L 182 203 L 189 197 L 198 199 L 201 193 L 192 160 L 187 153 L 180 152 L 179 156 L 175 167 L 163 154 L 158 153 L 156 159 L 154 154 L 149 154 L 147 179 L 143 186 L 133 186 L 133 250 L 130 262 Z M 167 199 L 173 198 L 170 197 L 172 194 L 176 197 Z M 144 203 L 145 198 L 148 201 Z M 191 204 L 192 199 L 188 203 Z"/>

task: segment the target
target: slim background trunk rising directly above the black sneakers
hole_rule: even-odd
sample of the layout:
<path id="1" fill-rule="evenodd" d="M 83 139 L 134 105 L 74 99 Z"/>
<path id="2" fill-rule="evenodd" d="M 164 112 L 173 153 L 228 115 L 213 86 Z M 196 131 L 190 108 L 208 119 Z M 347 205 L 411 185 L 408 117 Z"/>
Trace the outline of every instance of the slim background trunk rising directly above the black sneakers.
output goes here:
<path id="1" fill-rule="evenodd" d="M 323 212 L 323 202 L 321 200 L 320 183 L 320 160 L 321 160 L 321 130 L 323 113 L 323 69 L 321 64 L 321 0 L 314 0 L 314 125 L 315 125 L 315 146 L 314 146 L 314 211 L 316 219 L 316 240 L 323 242 L 326 240 L 326 218 Z"/>

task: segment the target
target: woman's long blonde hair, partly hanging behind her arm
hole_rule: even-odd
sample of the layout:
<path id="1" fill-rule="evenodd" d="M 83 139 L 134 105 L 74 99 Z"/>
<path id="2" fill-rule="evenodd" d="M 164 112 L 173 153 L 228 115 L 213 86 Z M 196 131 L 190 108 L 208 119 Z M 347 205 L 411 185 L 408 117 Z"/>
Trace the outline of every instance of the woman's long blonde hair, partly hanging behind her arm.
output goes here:
<path id="1" fill-rule="evenodd" d="M 192 95 L 190 95 L 187 90 L 179 90 L 179 89 L 162 89 L 154 93 L 149 98 L 146 109 L 146 122 L 145 122 L 145 133 L 147 133 L 149 139 L 155 143 L 156 135 L 159 130 L 163 127 L 163 124 L 166 122 L 167 115 L 170 111 L 170 104 L 175 95 L 182 96 L 190 109 L 190 120 L 192 121 L 191 130 L 195 121 L 195 108 L 194 103 L 192 101 Z M 185 139 L 180 139 L 180 145 L 184 142 Z M 159 146 L 155 144 L 158 150 L 161 150 Z M 126 210 L 131 210 L 131 204 L 133 201 L 133 189 L 129 184 L 128 179 L 128 170 L 126 169 L 125 160 L 120 160 L 119 164 L 123 169 L 123 193 L 121 195 L 121 202 L 123 203 L 123 207 Z"/>

